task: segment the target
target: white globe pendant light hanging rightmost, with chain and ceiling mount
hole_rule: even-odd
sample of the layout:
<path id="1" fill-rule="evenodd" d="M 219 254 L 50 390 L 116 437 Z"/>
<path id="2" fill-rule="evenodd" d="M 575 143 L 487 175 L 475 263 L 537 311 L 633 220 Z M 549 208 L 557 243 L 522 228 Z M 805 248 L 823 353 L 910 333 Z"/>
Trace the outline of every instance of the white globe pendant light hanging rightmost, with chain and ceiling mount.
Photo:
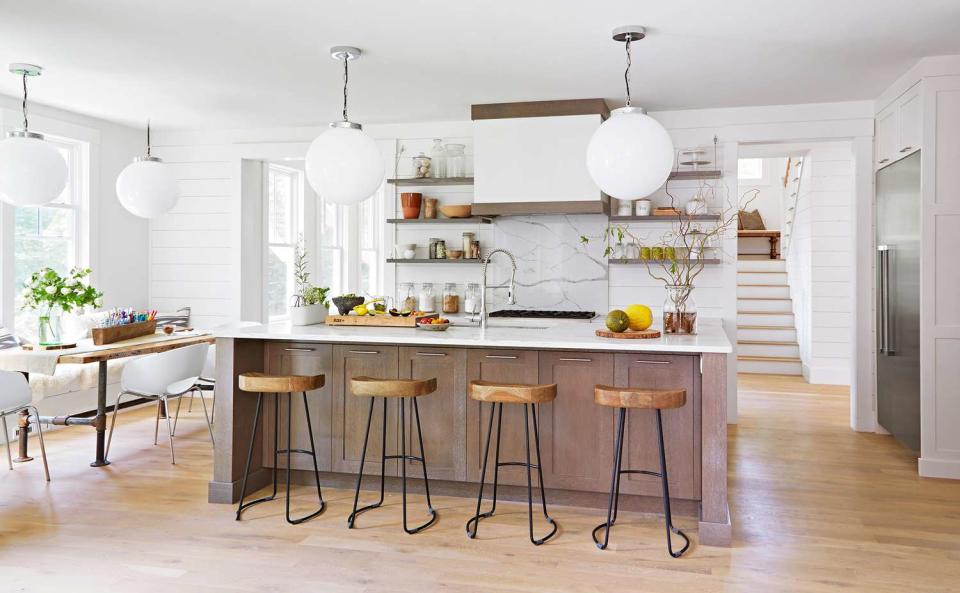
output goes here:
<path id="1" fill-rule="evenodd" d="M 587 145 L 587 170 L 603 193 L 619 200 L 637 200 L 657 191 L 673 169 L 673 141 L 660 123 L 630 105 L 630 43 L 646 36 L 643 27 L 618 27 L 616 41 L 626 43 L 624 81 L 627 104 L 614 109 Z"/>

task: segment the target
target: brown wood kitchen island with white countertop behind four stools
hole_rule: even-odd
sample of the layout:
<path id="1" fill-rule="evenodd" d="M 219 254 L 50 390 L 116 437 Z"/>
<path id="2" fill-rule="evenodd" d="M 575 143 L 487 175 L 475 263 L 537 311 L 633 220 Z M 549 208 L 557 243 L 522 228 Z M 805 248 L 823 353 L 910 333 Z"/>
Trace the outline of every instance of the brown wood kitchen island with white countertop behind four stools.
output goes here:
<path id="1" fill-rule="evenodd" d="M 686 405 L 663 412 L 675 512 L 699 519 L 701 544 L 729 545 L 726 361 L 732 348 L 723 328 L 707 321 L 695 336 L 622 340 L 597 337 L 598 327 L 602 326 L 582 322 L 485 330 L 454 326 L 445 332 L 286 324 L 221 328 L 216 332 L 216 448 L 208 499 L 233 503 L 240 497 L 256 405 L 256 397 L 237 387 L 237 376 L 243 372 L 326 376 L 326 384 L 307 395 L 322 484 L 341 488 L 355 483 L 369 410 L 366 398 L 350 393 L 350 379 L 435 377 L 437 391 L 420 398 L 431 491 L 472 497 L 480 481 L 482 418 L 490 412 L 487 406 L 481 411 L 467 397 L 470 381 L 556 383 L 556 401 L 544 404 L 540 412 L 548 501 L 598 509 L 607 505 L 615 427 L 613 410 L 594 404 L 594 385 L 681 388 L 687 391 Z M 254 451 L 251 490 L 267 485 L 272 474 L 268 463 L 273 406 L 264 407 L 267 413 Z M 293 410 L 293 446 L 303 448 L 309 440 L 307 422 L 300 406 L 294 405 Z M 378 452 L 382 420 L 375 414 L 373 421 L 370 450 Z M 504 410 L 503 430 L 522 434 L 520 410 Z M 388 452 L 398 445 L 400 434 L 391 404 Z M 406 434 L 409 439 L 415 433 L 407 427 Z M 657 467 L 652 412 L 631 411 L 625 438 L 625 466 Z M 415 445 L 408 443 L 407 448 L 413 450 Z M 504 439 L 504 459 L 520 459 L 522 451 L 521 439 Z M 312 482 L 313 472 L 308 469 L 313 469 L 309 459 L 294 460 L 293 480 Z M 525 500 L 525 473 L 514 469 L 501 470 L 500 497 Z M 368 455 L 363 471 L 380 474 L 379 454 Z M 388 487 L 397 486 L 393 476 L 399 471 L 396 461 L 388 462 Z M 379 487 L 379 480 L 364 485 Z M 646 475 L 623 479 L 621 508 L 659 512 L 659 497 L 659 479 Z M 562 522 L 562 514 L 558 515 Z"/>

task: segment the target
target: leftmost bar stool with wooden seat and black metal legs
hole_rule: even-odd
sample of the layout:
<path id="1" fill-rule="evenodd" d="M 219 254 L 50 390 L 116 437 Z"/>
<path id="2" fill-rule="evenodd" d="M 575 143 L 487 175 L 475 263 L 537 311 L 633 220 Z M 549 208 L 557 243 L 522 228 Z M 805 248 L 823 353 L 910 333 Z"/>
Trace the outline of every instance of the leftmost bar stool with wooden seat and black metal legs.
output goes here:
<path id="1" fill-rule="evenodd" d="M 240 504 L 237 506 L 237 521 L 240 520 L 240 514 L 255 504 L 273 500 L 277 497 L 277 459 L 280 453 L 287 454 L 287 523 L 297 525 L 309 519 L 312 519 L 323 512 L 325 503 L 323 502 L 323 493 L 320 491 L 320 469 L 317 467 L 317 447 L 313 442 L 313 425 L 310 422 L 310 407 L 307 405 L 307 392 L 314 389 L 320 389 L 324 384 L 323 375 L 266 375 L 264 373 L 242 373 L 239 377 L 239 387 L 241 391 L 248 391 L 257 394 L 257 411 L 253 416 L 253 430 L 250 434 L 250 447 L 247 450 L 247 466 L 243 471 L 243 485 L 240 487 Z M 291 448 L 291 425 L 293 394 L 299 392 L 303 396 L 303 412 L 307 417 L 307 432 L 310 435 L 310 450 Z M 273 399 L 273 493 L 263 498 L 251 500 L 248 503 L 243 502 L 247 492 L 247 479 L 250 477 L 250 464 L 253 462 L 253 446 L 257 440 L 257 429 L 260 426 L 260 412 L 263 409 L 263 394 L 274 394 Z M 280 449 L 280 396 L 287 396 L 287 448 Z M 317 498 L 320 499 L 320 508 L 299 518 L 290 517 L 290 454 L 303 453 L 309 455 L 313 460 L 313 474 L 317 480 Z"/>

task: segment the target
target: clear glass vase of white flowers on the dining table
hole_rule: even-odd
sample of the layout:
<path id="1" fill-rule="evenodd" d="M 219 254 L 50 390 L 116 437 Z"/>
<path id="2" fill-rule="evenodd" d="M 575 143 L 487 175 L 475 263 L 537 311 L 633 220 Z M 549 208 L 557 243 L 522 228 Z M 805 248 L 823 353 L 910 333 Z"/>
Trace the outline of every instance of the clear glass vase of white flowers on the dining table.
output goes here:
<path id="1" fill-rule="evenodd" d="M 23 283 L 21 309 L 38 311 L 41 346 L 60 344 L 60 314 L 88 305 L 99 307 L 103 293 L 86 284 L 90 268 L 72 268 L 61 276 L 51 268 L 34 272 Z"/>

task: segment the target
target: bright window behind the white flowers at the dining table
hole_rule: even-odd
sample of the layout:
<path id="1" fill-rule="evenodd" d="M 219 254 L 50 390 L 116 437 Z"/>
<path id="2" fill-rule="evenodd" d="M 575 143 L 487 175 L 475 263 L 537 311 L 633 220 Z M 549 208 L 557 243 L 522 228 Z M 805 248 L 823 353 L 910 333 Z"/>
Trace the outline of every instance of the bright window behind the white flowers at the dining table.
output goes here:
<path id="1" fill-rule="evenodd" d="M 13 209 L 14 332 L 30 341 L 37 339 L 37 312 L 20 310 L 24 281 L 44 267 L 62 275 L 87 264 L 81 249 L 88 166 L 85 143 L 49 135 L 46 140 L 67 162 L 67 185 L 50 204 Z"/>

